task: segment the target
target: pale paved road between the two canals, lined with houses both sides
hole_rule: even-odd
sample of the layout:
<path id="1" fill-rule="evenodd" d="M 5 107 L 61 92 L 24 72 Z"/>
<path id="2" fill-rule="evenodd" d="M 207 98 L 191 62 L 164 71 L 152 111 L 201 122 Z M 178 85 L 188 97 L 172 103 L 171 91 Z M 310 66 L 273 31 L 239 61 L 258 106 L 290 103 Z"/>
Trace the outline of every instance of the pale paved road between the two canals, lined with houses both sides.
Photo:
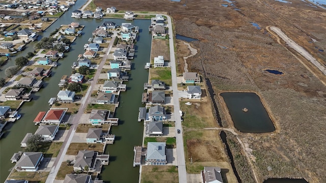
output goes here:
<path id="1" fill-rule="evenodd" d="M 112 39 L 114 40 L 115 37 L 113 37 Z M 69 132 L 67 134 L 67 137 L 66 137 L 63 145 L 61 146 L 59 155 L 57 156 L 57 159 L 56 159 L 55 163 L 53 163 L 53 167 L 51 168 L 51 171 L 50 171 L 45 183 L 52 183 L 55 180 L 55 178 L 56 178 L 56 176 L 58 174 L 59 168 L 60 168 L 62 162 L 64 161 L 64 157 L 65 157 L 65 155 L 67 153 L 69 144 L 71 143 L 72 137 L 75 134 L 77 125 L 79 123 L 79 120 L 82 117 L 82 115 L 84 113 L 84 110 L 85 110 L 85 108 L 87 107 L 87 104 L 90 101 L 92 91 L 93 91 L 93 89 L 95 88 L 95 85 L 96 85 L 95 81 L 97 81 L 97 79 L 98 79 L 98 77 L 99 77 L 99 75 L 100 75 L 100 73 L 102 71 L 102 68 L 103 68 L 103 66 L 105 64 L 105 60 L 106 60 L 108 54 L 110 54 L 110 50 L 111 50 L 111 48 L 113 46 L 113 43 L 114 43 L 114 41 L 111 41 L 110 45 L 108 45 L 107 50 L 106 50 L 106 52 L 105 52 L 105 54 L 104 54 L 104 56 L 102 58 L 102 61 L 101 61 L 100 65 L 99 65 L 99 67 L 98 67 L 98 69 L 96 71 L 93 82 L 91 83 L 90 87 L 88 88 L 85 97 L 83 97 L 82 105 L 80 105 L 77 114 L 75 114 L 73 116 L 73 120 L 72 120 L 72 123 L 71 123 L 72 126 L 71 126 L 71 128 L 70 128 L 70 130 L 69 130 Z"/>

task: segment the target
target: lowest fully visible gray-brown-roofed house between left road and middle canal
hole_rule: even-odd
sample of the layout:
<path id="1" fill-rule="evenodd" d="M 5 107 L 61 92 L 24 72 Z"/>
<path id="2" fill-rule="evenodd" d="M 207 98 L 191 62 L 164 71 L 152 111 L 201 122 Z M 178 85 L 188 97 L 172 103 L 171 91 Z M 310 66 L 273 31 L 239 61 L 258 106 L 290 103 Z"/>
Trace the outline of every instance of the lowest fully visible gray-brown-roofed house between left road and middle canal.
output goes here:
<path id="1" fill-rule="evenodd" d="M 97 152 L 94 150 L 79 150 L 73 165 L 74 171 L 84 171 L 87 166 L 89 172 L 95 170 Z"/>

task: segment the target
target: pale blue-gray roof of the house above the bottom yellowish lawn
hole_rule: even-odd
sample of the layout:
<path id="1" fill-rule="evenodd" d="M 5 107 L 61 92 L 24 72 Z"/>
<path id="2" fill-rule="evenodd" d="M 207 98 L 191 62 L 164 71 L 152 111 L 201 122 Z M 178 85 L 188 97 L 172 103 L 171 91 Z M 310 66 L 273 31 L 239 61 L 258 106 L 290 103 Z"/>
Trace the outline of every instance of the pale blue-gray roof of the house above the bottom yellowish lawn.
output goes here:
<path id="1" fill-rule="evenodd" d="M 147 143 L 147 160 L 166 160 L 165 142 L 148 142 Z"/>

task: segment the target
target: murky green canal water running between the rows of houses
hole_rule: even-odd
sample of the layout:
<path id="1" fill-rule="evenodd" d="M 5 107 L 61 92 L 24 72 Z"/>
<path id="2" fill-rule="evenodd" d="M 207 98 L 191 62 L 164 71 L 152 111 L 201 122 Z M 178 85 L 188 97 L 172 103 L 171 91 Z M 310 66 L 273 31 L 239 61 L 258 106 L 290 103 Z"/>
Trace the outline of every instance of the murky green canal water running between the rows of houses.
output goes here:
<path id="1" fill-rule="evenodd" d="M 92 36 L 96 26 L 103 21 L 113 21 L 118 25 L 125 22 L 123 19 L 74 19 L 71 18 L 71 12 L 85 4 L 85 0 L 78 0 L 60 19 L 53 23 L 46 32 L 44 37 L 48 37 L 51 32 L 59 28 L 61 24 L 69 24 L 72 21 L 78 21 L 86 25 L 83 29 L 83 36 L 78 37 L 71 45 L 69 52 L 65 53 L 65 58 L 59 60 L 59 66 L 52 69 L 52 76 L 45 78 L 44 87 L 37 93 L 33 93 L 33 100 L 22 105 L 19 113 L 21 119 L 5 128 L 5 135 L 0 140 L 0 182 L 4 182 L 10 173 L 14 164 L 11 164 L 10 158 L 14 153 L 22 150 L 20 141 L 26 133 L 34 133 L 37 129 L 33 124 L 33 119 L 39 111 L 48 110 L 47 101 L 51 97 L 56 97 L 59 92 L 58 83 L 62 75 L 71 74 L 71 65 L 77 59 L 78 54 L 84 52 L 84 44 Z M 110 154 L 110 165 L 104 166 L 101 178 L 106 182 L 135 182 L 139 178 L 139 168 L 132 167 L 133 146 L 142 143 L 143 124 L 137 122 L 138 108 L 142 106 L 141 96 L 143 84 L 148 79 L 148 70 L 144 65 L 150 59 L 151 35 L 148 32 L 150 20 L 134 20 L 134 25 L 140 26 L 140 36 L 137 42 L 137 51 L 135 59 L 132 61 L 132 70 L 130 80 L 126 82 L 127 92 L 120 95 L 120 106 L 116 110 L 116 117 L 120 118 L 120 124 L 112 128 L 113 134 L 116 135 L 116 141 L 113 145 L 108 145 L 105 149 Z M 41 38 L 39 38 L 41 39 Z M 33 45 L 29 44 L 23 52 L 17 56 L 24 56 L 28 51 L 33 51 Z M 3 72 L 3 71 L 1 71 Z M 1 75 L 2 76 L 2 75 Z M 128 176 L 121 176 L 122 172 L 127 172 Z"/>

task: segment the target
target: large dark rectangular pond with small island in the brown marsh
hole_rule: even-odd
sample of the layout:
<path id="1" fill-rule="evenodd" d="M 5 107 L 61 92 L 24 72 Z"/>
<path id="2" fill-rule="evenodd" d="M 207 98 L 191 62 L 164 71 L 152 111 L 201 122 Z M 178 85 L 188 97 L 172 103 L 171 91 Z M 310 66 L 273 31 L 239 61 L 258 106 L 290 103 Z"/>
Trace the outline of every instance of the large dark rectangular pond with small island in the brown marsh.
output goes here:
<path id="1" fill-rule="evenodd" d="M 255 93 L 222 93 L 234 127 L 240 132 L 266 133 L 275 131 L 273 121 Z"/>

